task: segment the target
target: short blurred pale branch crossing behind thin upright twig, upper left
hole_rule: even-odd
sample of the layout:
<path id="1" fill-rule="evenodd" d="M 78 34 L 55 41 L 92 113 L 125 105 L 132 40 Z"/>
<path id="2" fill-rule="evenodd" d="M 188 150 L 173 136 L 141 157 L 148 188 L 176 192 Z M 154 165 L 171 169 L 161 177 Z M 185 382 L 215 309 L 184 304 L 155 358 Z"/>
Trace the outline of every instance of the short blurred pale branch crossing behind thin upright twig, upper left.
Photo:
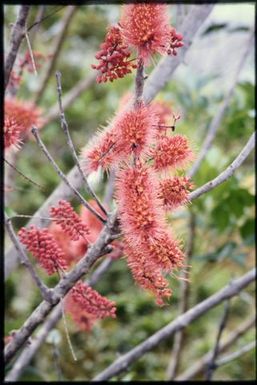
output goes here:
<path id="1" fill-rule="evenodd" d="M 96 79 L 96 74 L 90 74 L 83 80 L 79 80 L 77 84 L 63 97 L 62 105 L 63 109 L 66 110 L 67 107 L 70 107 L 74 101 L 86 91 L 92 84 L 94 84 Z M 54 119 L 59 116 L 59 106 L 58 103 L 50 108 L 48 114 L 45 116 L 45 124 L 51 123 Z"/>

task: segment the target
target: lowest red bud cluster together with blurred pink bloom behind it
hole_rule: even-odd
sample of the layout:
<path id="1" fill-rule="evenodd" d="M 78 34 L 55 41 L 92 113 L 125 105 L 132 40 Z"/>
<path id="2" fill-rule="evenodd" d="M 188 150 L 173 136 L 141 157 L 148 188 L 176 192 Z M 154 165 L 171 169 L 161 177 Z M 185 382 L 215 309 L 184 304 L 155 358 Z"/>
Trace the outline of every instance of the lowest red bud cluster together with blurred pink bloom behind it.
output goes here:
<path id="1" fill-rule="evenodd" d="M 115 303 L 82 281 L 77 282 L 67 295 L 65 309 L 79 328 L 85 331 L 90 330 L 98 319 L 116 317 Z"/>

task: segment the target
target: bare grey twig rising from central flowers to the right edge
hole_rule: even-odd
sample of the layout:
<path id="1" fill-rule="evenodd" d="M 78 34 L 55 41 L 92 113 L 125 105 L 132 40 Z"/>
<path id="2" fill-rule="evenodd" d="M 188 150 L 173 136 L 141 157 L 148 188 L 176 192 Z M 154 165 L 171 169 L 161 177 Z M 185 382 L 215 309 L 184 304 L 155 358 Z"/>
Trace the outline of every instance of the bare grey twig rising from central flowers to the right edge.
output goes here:
<path id="1" fill-rule="evenodd" d="M 210 182 L 205 183 L 203 186 L 199 187 L 197 190 L 194 190 L 189 194 L 189 200 L 192 201 L 205 194 L 206 192 L 214 189 L 219 186 L 221 183 L 225 182 L 228 178 L 230 178 L 234 172 L 241 166 L 241 164 L 245 161 L 248 155 L 251 153 L 255 146 L 255 132 L 251 135 L 250 139 L 240 152 L 240 154 L 236 157 L 236 159 L 216 178 L 212 179 Z"/>

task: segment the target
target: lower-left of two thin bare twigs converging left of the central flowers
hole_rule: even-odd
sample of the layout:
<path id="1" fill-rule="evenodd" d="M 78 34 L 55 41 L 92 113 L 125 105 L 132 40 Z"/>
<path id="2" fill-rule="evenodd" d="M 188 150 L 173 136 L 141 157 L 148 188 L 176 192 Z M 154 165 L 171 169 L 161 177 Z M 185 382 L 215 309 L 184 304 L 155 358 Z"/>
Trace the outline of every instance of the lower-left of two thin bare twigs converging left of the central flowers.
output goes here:
<path id="1" fill-rule="evenodd" d="M 99 215 L 98 212 L 87 203 L 87 201 L 83 198 L 83 196 L 79 193 L 79 191 L 70 184 L 67 177 L 61 171 L 61 169 L 59 168 L 57 163 L 54 161 L 52 156 L 49 154 L 49 151 L 47 150 L 46 146 L 42 142 L 42 140 L 39 136 L 39 133 L 38 133 L 38 129 L 36 127 L 33 127 L 31 132 L 35 136 L 37 144 L 39 145 L 39 147 L 41 148 L 41 150 L 43 151 L 43 153 L 45 154 L 45 156 L 47 157 L 49 162 L 52 164 L 52 166 L 54 167 L 54 169 L 57 172 L 57 174 L 59 175 L 59 177 L 70 187 L 70 189 L 74 192 L 74 194 L 79 199 L 79 201 L 82 203 L 82 205 L 85 206 L 92 214 L 94 214 L 97 217 L 97 219 L 99 219 L 102 223 L 105 223 L 106 220 L 104 218 L 102 218 L 101 215 Z"/>

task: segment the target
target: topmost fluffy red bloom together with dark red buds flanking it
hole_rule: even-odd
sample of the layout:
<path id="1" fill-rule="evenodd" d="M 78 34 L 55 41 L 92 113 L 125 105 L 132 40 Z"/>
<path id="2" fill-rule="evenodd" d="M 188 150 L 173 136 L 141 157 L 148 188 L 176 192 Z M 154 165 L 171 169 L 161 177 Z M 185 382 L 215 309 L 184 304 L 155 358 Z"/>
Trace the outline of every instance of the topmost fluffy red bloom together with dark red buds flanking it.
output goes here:
<path id="1" fill-rule="evenodd" d="M 95 55 L 98 65 L 92 68 L 99 71 L 97 82 L 122 78 L 137 68 L 130 59 L 131 48 L 136 49 L 137 57 L 144 64 L 156 52 L 177 55 L 183 46 L 183 36 L 171 27 L 166 4 L 128 4 L 123 6 L 120 22 L 109 27 L 100 51 Z"/>

